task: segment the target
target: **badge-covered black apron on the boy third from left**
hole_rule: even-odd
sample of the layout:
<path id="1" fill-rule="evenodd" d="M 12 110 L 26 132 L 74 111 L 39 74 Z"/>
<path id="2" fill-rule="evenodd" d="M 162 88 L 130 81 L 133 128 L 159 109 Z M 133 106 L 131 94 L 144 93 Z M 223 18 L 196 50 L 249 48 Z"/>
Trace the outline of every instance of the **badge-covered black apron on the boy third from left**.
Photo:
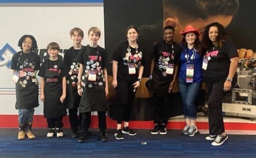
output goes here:
<path id="1" fill-rule="evenodd" d="M 74 52 L 75 55 L 75 52 Z M 68 109 L 77 109 L 81 100 L 81 96 L 78 94 L 78 70 L 79 64 L 76 59 L 73 59 L 71 65 L 69 66 L 69 74 L 67 76 L 67 97 L 66 106 Z"/>

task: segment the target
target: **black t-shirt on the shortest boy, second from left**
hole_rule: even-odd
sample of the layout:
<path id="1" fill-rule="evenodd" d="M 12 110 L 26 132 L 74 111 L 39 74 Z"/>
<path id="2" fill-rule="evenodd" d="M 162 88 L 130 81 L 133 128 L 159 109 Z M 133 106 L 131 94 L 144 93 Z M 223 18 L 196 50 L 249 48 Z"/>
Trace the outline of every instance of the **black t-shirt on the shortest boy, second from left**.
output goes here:
<path id="1" fill-rule="evenodd" d="M 47 67 L 47 68 L 46 68 Z M 67 76 L 66 66 L 63 64 L 61 59 L 52 61 L 50 59 L 46 59 L 41 65 L 38 76 L 45 77 L 46 70 L 58 72 L 59 77 L 58 80 L 61 82 L 63 77 Z"/>

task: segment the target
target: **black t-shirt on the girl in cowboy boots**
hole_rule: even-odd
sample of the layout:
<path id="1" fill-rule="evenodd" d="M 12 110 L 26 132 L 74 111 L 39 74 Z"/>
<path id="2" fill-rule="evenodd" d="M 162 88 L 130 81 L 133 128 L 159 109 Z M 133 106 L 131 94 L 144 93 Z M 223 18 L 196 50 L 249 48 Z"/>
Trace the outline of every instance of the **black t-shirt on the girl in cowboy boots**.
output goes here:
<path id="1" fill-rule="evenodd" d="M 20 66 L 25 63 L 25 61 L 34 62 L 35 68 L 34 70 L 40 69 L 40 57 L 38 54 L 30 52 L 29 54 L 24 54 L 22 51 L 17 52 L 12 56 L 12 70 L 19 70 Z"/>

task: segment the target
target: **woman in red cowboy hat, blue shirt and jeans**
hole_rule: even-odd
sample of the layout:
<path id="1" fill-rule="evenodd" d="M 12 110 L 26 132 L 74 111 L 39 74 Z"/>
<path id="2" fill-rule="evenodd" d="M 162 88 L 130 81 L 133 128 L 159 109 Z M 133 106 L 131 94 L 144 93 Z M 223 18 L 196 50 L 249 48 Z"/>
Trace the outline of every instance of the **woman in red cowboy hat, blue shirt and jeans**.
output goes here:
<path id="1" fill-rule="evenodd" d="M 185 30 L 180 31 L 180 34 L 183 35 L 183 39 L 179 62 L 178 87 L 186 121 L 186 126 L 181 131 L 181 134 L 194 136 L 198 132 L 195 102 L 203 81 L 201 70 L 203 48 L 198 39 L 200 33 L 197 28 L 187 25 Z"/>

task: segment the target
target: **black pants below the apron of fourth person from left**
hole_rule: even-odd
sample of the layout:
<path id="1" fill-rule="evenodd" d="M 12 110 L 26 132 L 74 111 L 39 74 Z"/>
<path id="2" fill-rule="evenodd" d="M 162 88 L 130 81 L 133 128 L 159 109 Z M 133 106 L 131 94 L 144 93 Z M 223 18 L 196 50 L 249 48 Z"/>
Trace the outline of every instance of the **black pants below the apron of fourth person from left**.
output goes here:
<path id="1" fill-rule="evenodd" d="M 99 129 L 106 130 L 106 111 L 98 111 Z M 81 130 L 88 130 L 91 125 L 91 112 L 81 113 Z"/>

